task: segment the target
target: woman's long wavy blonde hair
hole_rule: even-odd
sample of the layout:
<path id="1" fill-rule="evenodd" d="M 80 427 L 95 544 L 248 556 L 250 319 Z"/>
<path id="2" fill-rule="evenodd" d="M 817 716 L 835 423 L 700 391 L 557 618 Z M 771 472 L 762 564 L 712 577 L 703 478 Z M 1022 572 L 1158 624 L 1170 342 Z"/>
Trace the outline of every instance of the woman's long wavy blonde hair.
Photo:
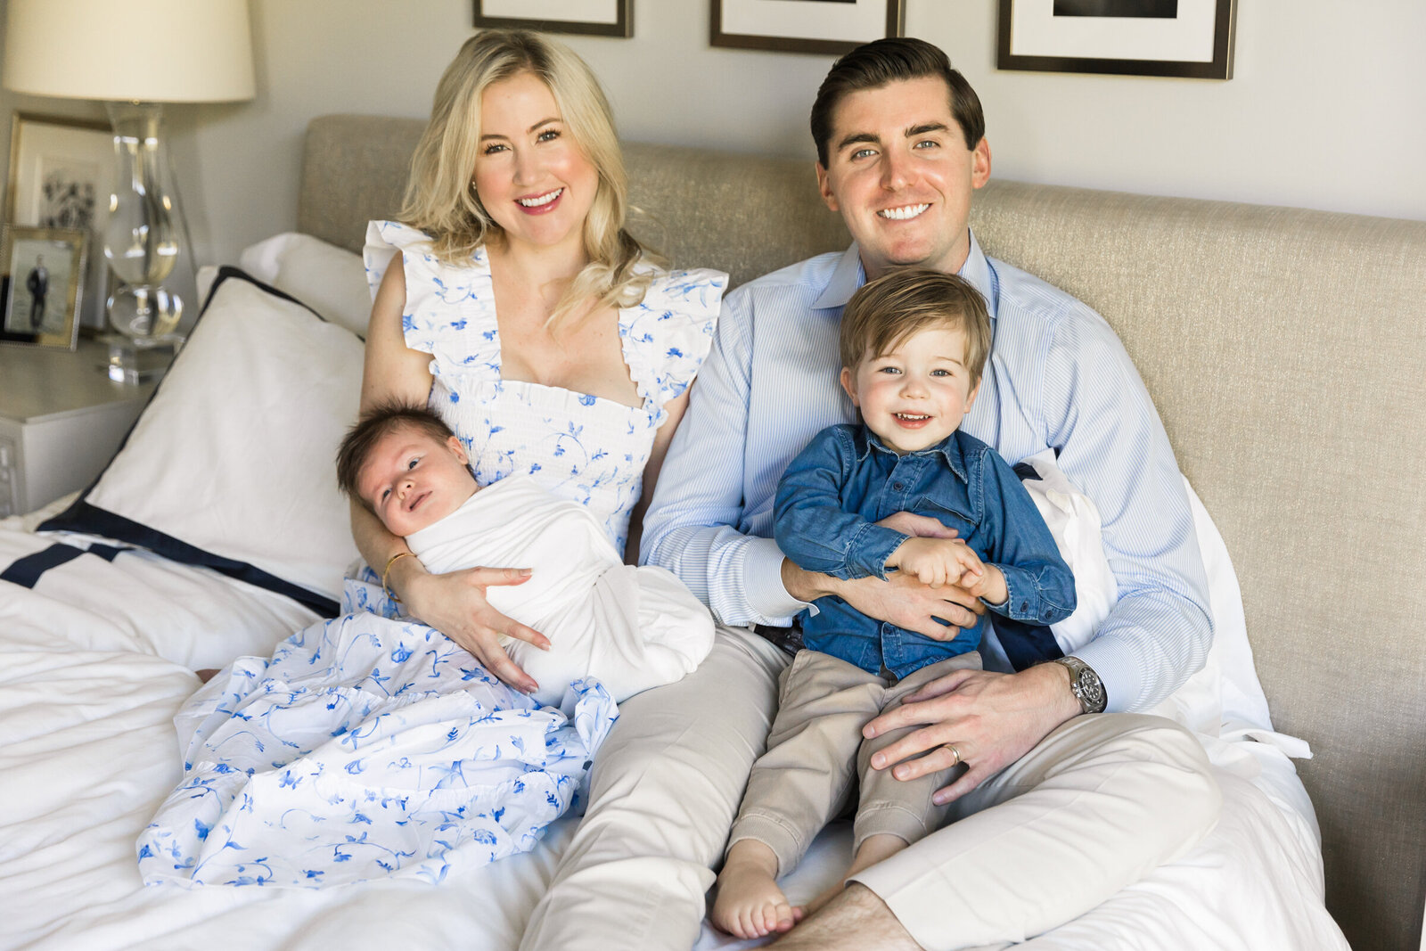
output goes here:
<path id="1" fill-rule="evenodd" d="M 426 232 L 432 252 L 455 265 L 469 262 L 476 248 L 503 235 L 475 194 L 471 175 L 481 154 L 481 97 L 492 83 L 523 73 L 549 87 L 569 135 L 599 174 L 583 228 L 589 264 L 546 321 L 558 331 L 599 308 L 639 304 L 653 268 L 636 265 L 663 264 L 625 230 L 629 190 L 613 113 L 599 80 L 572 50 L 529 30 L 486 30 L 466 40 L 436 86 L 399 217 Z"/>

